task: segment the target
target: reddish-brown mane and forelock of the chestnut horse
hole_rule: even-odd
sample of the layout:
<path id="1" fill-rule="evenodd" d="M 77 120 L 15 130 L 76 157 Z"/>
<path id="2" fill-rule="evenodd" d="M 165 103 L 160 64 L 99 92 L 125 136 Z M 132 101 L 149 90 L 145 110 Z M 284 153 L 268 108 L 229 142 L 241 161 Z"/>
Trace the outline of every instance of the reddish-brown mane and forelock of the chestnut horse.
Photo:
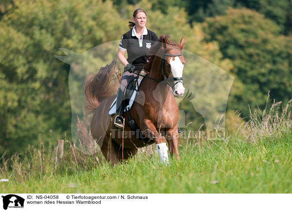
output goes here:
<path id="1" fill-rule="evenodd" d="M 144 65 L 144 69 L 146 71 L 150 71 L 155 55 L 157 51 L 161 49 L 161 43 L 163 39 L 165 39 L 166 43 L 169 44 L 169 47 L 167 49 L 164 49 L 164 51 L 168 51 L 170 50 L 170 48 L 173 48 L 173 47 L 179 48 L 180 44 L 177 41 L 171 41 L 169 35 L 160 35 L 158 41 L 153 46 L 151 46 L 151 48 L 148 50 L 147 62 L 146 62 L 146 65 Z"/>

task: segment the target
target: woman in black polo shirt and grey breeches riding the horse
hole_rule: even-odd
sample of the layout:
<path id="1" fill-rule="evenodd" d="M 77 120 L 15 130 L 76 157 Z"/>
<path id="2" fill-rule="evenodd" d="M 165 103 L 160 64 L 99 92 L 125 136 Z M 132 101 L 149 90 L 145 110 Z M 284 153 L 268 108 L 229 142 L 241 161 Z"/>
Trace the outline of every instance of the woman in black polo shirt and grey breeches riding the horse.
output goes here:
<path id="1" fill-rule="evenodd" d="M 148 49 L 158 40 L 157 35 L 146 29 L 147 14 L 143 9 L 136 9 L 133 12 L 133 21 L 129 21 L 129 29 L 121 39 L 118 49 L 118 59 L 125 66 L 124 73 L 122 75 L 121 86 L 118 89 L 116 100 L 116 114 L 114 126 L 116 128 L 122 128 L 124 118 L 122 117 L 124 107 L 122 100 L 124 96 L 125 87 L 128 82 L 132 81 L 137 74 L 146 64 L 146 55 Z M 125 58 L 125 52 L 127 50 L 128 59 Z M 134 73 L 135 72 L 135 73 Z"/>

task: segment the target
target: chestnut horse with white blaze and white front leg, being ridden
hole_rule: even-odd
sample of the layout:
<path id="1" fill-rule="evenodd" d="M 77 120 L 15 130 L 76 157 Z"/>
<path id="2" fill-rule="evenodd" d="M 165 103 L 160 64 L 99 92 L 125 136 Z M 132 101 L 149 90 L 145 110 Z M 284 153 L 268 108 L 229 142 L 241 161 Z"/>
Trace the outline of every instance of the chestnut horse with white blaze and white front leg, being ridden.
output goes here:
<path id="1" fill-rule="evenodd" d="M 151 57 L 144 67 L 149 73 L 139 89 L 145 97 L 145 103 L 135 101 L 130 110 L 141 134 L 152 141 L 148 144 L 156 143 L 162 162 L 168 162 L 165 139 L 170 154 L 179 159 L 177 127 L 179 108 L 174 96 L 182 97 L 184 93 L 183 45 L 184 37 L 178 44 L 171 42 L 169 36 L 165 35 L 160 36 L 158 42 L 149 49 L 148 54 Z M 87 79 L 84 91 L 86 101 L 84 109 L 93 114 L 91 135 L 101 147 L 106 160 L 113 165 L 135 155 L 139 147 L 148 145 L 135 135 L 131 135 L 132 131 L 127 124 L 125 113 L 123 115 L 126 122 L 124 129 L 117 130 L 113 126 L 114 118 L 108 112 L 116 97 L 111 95 L 116 90 L 116 84 L 111 80 L 114 69 L 115 62 L 101 68 L 96 75 Z"/>

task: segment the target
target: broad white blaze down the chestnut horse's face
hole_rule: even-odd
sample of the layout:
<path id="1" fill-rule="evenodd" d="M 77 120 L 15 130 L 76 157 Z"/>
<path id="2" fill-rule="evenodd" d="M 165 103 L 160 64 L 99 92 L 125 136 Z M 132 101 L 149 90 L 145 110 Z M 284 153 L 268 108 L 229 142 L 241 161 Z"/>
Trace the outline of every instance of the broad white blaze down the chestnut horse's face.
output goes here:
<path id="1" fill-rule="evenodd" d="M 171 58 L 169 62 L 171 66 L 171 72 L 174 78 L 181 78 L 183 77 L 183 63 L 181 62 L 180 58 L 178 56 L 174 57 L 174 60 Z M 174 81 L 176 83 L 178 81 Z M 173 94 L 176 97 L 182 97 L 184 93 L 184 87 L 183 83 L 179 82 L 175 84 L 173 87 Z"/>

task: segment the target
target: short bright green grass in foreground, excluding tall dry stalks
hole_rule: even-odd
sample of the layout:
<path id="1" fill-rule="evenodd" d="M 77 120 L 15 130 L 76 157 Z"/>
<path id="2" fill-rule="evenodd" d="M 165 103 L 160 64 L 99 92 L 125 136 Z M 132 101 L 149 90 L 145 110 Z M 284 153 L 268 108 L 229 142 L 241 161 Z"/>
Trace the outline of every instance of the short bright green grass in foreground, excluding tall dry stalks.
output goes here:
<path id="1" fill-rule="evenodd" d="M 1 178 L 10 179 L 0 183 L 0 192 L 292 193 L 291 133 L 277 142 L 267 139 L 255 145 L 230 140 L 217 145 L 191 145 L 186 155 L 181 146 L 181 160 L 171 159 L 168 166 L 161 165 L 156 154 L 140 153 L 116 167 L 100 161 L 78 169 L 67 164 L 55 172 L 53 162 L 43 173 L 1 172 Z"/>

